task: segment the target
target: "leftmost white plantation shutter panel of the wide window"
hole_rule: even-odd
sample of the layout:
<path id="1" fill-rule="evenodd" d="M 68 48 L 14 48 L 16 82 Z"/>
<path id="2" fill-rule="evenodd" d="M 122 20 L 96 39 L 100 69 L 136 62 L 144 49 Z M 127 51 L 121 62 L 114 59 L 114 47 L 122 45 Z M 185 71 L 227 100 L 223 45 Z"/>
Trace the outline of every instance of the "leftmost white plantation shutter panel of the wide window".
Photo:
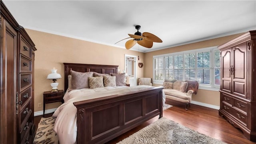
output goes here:
<path id="1" fill-rule="evenodd" d="M 163 71 L 164 71 L 164 58 L 154 58 L 154 80 L 164 80 Z"/>

